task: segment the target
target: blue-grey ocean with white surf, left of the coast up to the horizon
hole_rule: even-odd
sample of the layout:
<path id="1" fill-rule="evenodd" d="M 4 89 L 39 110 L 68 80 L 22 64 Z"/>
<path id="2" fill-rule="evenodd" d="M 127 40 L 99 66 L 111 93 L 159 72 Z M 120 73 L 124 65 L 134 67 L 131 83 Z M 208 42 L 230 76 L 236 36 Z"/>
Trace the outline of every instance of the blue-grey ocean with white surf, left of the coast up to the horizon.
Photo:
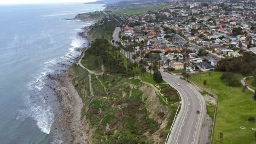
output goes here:
<path id="1" fill-rule="evenodd" d="M 90 21 L 63 20 L 102 4 L 0 5 L 0 143 L 53 143 L 56 99 L 48 75 L 61 74 L 87 41 Z"/>

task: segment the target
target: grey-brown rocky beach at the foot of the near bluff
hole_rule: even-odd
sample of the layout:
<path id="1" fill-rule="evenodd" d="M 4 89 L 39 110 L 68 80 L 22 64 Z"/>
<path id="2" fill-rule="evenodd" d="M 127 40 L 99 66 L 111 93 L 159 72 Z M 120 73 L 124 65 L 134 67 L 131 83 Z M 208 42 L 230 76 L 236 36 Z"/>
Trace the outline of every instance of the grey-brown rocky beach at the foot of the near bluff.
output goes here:
<path id="1" fill-rule="evenodd" d="M 62 115 L 56 117 L 56 128 L 62 131 L 60 137 L 63 143 L 87 143 L 86 131 L 81 120 L 82 99 L 79 97 L 72 83 L 72 71 L 68 69 L 60 76 L 52 76 L 56 80 L 56 98 L 61 104 Z M 60 124 L 59 128 L 57 124 Z M 70 133 L 67 133 L 69 130 Z M 69 135 L 68 135 L 69 134 Z"/>

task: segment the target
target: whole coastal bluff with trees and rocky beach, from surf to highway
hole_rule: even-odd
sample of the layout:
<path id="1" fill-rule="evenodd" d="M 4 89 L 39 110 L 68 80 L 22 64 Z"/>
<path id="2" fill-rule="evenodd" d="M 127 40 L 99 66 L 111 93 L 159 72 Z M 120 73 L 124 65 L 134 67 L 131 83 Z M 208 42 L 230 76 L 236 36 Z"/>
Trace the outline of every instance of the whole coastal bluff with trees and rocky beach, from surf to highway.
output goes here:
<path id="1" fill-rule="evenodd" d="M 88 34 L 80 33 L 94 40 L 59 80 L 71 142 L 164 143 L 179 105 L 178 93 L 167 83 L 152 85 L 135 78 L 135 69 L 127 65 L 131 62 L 109 40 L 117 23 L 114 16 L 104 17 Z M 151 75 L 141 78 L 153 81 Z"/>

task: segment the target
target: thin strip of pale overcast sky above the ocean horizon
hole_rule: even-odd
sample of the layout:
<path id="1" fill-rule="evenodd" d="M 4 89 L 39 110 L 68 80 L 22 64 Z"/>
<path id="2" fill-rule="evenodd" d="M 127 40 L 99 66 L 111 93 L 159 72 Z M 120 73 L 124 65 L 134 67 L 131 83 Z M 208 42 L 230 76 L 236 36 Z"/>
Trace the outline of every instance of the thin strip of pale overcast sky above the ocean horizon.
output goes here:
<path id="1" fill-rule="evenodd" d="M 0 0 L 0 4 L 92 2 L 96 0 Z"/>

